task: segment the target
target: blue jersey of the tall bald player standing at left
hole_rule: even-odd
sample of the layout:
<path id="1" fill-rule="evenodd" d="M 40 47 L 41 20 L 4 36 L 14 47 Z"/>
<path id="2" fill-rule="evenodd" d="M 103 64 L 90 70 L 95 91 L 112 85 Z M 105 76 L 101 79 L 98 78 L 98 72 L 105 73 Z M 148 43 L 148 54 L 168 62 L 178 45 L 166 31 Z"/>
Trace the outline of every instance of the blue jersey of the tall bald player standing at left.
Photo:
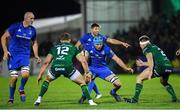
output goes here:
<path id="1" fill-rule="evenodd" d="M 22 22 L 12 24 L 8 29 L 10 53 L 30 55 L 31 41 L 36 38 L 36 29 L 33 26 L 24 27 Z"/>

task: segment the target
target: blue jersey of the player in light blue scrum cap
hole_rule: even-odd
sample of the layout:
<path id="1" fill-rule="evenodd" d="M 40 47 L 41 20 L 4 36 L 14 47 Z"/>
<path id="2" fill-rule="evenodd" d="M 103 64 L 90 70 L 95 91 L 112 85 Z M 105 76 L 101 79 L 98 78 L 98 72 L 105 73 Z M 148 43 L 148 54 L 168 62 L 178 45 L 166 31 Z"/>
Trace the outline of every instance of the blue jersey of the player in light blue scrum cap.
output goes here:
<path id="1" fill-rule="evenodd" d="M 102 49 L 96 50 L 94 45 L 88 46 L 86 50 L 89 52 L 89 66 L 91 67 L 104 67 L 106 64 L 106 57 L 112 58 L 114 52 L 107 45 L 103 45 Z"/>

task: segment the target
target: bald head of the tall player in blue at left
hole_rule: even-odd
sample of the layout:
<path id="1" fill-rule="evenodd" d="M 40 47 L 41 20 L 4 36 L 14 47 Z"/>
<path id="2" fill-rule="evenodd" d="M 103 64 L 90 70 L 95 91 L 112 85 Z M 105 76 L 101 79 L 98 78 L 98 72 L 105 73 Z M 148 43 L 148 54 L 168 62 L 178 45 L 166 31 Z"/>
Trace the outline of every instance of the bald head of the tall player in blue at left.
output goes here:
<path id="1" fill-rule="evenodd" d="M 27 25 L 27 26 L 30 26 L 33 24 L 34 22 L 34 14 L 32 12 L 26 12 L 24 14 L 24 23 Z"/>

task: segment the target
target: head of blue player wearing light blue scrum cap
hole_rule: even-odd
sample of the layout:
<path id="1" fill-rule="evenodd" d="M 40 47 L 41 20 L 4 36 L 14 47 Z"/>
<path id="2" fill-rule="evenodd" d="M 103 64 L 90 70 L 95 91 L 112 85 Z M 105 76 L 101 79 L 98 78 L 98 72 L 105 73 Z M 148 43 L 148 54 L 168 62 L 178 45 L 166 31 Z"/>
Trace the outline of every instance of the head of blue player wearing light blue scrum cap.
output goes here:
<path id="1" fill-rule="evenodd" d="M 103 39 L 100 36 L 96 36 L 93 39 L 93 44 L 97 50 L 101 50 L 103 47 Z"/>

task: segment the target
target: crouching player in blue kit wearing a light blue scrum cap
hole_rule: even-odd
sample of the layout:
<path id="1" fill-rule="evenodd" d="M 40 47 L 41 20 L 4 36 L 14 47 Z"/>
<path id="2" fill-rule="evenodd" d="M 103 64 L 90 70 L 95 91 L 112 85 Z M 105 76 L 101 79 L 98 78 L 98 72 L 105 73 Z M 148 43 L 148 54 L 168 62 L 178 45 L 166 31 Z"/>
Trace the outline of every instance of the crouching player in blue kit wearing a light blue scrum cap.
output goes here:
<path id="1" fill-rule="evenodd" d="M 127 67 L 124 62 L 114 54 L 114 52 L 103 43 L 103 38 L 97 36 L 93 39 L 92 46 L 86 48 L 87 56 L 89 57 L 89 69 L 92 73 L 92 81 L 88 86 L 93 85 L 93 80 L 99 77 L 105 81 L 113 84 L 114 88 L 110 91 L 110 94 L 115 98 L 117 102 L 121 101 L 120 96 L 116 93 L 121 87 L 121 82 L 119 78 L 107 67 L 106 57 L 113 59 L 120 67 L 125 71 L 133 73 L 133 69 Z M 89 92 L 91 93 L 92 87 L 89 87 Z"/>

